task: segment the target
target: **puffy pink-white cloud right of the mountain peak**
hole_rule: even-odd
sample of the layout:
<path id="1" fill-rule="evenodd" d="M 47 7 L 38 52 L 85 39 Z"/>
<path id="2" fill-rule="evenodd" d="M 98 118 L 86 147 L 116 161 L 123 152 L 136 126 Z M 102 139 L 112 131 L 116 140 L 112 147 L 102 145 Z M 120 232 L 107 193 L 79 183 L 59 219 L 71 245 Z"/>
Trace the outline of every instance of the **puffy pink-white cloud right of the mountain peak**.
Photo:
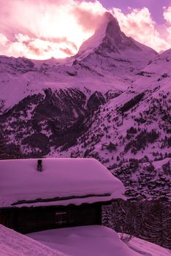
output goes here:
<path id="1" fill-rule="evenodd" d="M 148 8 L 142 9 L 129 8 L 129 13 L 124 14 L 120 9 L 113 8 L 115 18 L 121 26 L 121 30 L 128 36 L 133 37 L 144 45 L 157 50 L 167 50 L 170 48 L 169 26 L 158 26 L 151 17 Z M 168 12 L 167 12 L 168 14 Z M 169 19 L 169 15 L 165 15 Z"/>

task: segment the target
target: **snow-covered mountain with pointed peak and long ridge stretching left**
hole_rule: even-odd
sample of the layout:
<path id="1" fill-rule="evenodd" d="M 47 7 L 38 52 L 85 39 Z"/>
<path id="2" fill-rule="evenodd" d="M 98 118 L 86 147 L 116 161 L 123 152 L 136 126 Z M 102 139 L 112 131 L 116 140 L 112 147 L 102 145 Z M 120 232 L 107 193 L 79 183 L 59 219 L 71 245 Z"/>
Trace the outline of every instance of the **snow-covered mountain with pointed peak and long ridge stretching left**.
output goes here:
<path id="1" fill-rule="evenodd" d="M 76 56 L 47 61 L 0 56 L 0 107 L 11 108 L 28 95 L 44 94 L 47 88 L 74 87 L 83 92 L 86 88 L 91 94 L 125 90 L 134 74 L 156 56 L 151 48 L 126 37 L 118 21 L 106 12 Z"/>

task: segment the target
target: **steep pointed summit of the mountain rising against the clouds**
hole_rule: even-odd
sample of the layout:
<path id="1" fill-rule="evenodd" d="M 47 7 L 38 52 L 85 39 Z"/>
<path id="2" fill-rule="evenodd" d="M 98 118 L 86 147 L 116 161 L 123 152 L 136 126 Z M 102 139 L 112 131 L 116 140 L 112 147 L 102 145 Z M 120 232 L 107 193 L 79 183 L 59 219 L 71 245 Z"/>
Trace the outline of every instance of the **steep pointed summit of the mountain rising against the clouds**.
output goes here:
<path id="1" fill-rule="evenodd" d="M 75 57 L 84 59 L 90 53 L 121 54 L 125 50 L 141 51 L 145 48 L 146 50 L 151 49 L 136 42 L 132 37 L 126 37 L 126 34 L 121 31 L 118 20 L 110 12 L 104 12 L 94 35 L 83 42 Z"/>

